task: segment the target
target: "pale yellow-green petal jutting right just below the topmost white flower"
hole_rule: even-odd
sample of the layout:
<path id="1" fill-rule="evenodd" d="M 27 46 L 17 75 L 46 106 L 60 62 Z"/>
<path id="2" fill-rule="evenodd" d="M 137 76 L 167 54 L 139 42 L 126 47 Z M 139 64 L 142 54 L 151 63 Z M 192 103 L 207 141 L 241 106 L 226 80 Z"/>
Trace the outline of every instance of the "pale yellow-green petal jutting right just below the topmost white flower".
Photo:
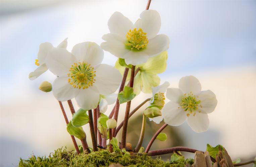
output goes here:
<path id="1" fill-rule="evenodd" d="M 162 73 L 166 69 L 167 51 L 160 53 L 157 56 L 151 57 L 146 63 L 138 65 L 142 70 L 153 74 Z"/>

